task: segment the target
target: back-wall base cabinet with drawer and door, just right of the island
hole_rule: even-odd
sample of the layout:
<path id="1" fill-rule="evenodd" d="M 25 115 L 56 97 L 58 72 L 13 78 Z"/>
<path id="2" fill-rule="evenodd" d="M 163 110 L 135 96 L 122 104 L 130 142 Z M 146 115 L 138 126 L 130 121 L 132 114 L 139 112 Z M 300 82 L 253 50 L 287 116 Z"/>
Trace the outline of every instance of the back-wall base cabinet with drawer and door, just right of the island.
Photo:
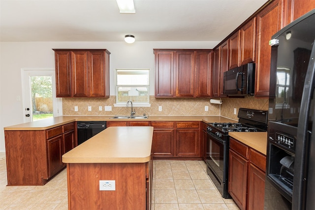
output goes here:
<path id="1" fill-rule="evenodd" d="M 172 121 L 152 121 L 154 127 L 152 155 L 154 157 L 174 157 L 174 123 Z"/>

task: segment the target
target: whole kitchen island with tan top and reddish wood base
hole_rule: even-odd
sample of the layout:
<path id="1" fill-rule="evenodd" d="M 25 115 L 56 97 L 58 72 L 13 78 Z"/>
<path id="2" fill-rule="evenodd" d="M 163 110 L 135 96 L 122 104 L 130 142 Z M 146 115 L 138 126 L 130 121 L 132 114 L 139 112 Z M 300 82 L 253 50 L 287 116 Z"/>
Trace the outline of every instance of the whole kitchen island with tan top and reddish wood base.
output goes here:
<path id="1" fill-rule="evenodd" d="M 151 126 L 109 127 L 63 154 L 68 209 L 150 209 L 152 137 Z M 101 191 L 100 180 L 115 190 Z"/>

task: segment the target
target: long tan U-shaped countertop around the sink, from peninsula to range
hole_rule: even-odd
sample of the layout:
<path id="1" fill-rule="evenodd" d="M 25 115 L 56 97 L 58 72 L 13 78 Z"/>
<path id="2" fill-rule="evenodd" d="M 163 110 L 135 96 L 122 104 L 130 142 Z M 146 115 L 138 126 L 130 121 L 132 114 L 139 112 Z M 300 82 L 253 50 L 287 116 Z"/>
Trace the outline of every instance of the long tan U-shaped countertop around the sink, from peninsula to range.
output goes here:
<path id="1" fill-rule="evenodd" d="M 113 116 L 62 116 L 4 127 L 4 130 L 46 130 L 74 121 L 204 121 L 237 122 L 221 116 L 149 116 L 148 119 L 110 119 Z"/>

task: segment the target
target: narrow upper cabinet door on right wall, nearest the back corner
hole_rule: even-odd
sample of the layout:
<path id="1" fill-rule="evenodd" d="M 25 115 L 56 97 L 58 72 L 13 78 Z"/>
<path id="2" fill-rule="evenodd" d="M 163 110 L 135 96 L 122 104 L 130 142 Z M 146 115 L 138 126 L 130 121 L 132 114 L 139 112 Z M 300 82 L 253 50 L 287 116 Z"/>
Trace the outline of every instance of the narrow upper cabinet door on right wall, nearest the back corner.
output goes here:
<path id="1" fill-rule="evenodd" d="M 213 97 L 220 96 L 220 50 L 221 47 L 213 51 Z"/>

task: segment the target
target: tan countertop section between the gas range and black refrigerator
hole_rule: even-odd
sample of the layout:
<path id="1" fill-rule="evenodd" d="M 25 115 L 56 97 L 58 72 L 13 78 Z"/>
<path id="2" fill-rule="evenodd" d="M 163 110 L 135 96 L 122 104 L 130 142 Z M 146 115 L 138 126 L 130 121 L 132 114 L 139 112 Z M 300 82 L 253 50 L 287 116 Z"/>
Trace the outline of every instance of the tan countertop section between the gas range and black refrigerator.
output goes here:
<path id="1" fill-rule="evenodd" d="M 228 135 L 264 155 L 267 154 L 267 132 L 229 132 Z"/>

